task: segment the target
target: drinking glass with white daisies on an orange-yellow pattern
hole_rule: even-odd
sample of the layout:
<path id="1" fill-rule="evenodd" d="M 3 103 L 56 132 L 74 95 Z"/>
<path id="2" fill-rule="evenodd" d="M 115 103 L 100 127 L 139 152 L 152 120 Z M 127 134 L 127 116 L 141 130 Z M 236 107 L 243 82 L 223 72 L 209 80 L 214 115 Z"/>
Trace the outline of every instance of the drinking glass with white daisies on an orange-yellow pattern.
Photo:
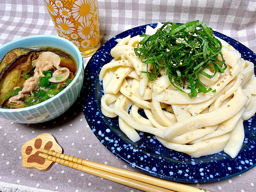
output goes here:
<path id="1" fill-rule="evenodd" d="M 83 57 L 100 46 L 97 0 L 44 0 L 58 35 L 73 42 Z"/>

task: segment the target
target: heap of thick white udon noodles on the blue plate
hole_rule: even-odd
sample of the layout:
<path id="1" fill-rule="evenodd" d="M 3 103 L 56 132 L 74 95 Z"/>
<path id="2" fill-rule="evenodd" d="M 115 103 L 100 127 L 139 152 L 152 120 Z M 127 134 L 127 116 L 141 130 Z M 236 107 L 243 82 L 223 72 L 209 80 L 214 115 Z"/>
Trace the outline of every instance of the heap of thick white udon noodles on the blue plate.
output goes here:
<path id="1" fill-rule="evenodd" d="M 146 34 L 154 34 L 161 26 L 160 23 L 155 29 L 147 26 Z M 197 97 L 189 98 L 175 90 L 165 68 L 154 81 L 141 73 L 151 67 L 147 68 L 134 53 L 134 47 L 142 39 L 130 35 L 117 39 L 111 50 L 114 59 L 99 74 L 105 93 L 101 98 L 102 113 L 111 118 L 118 116 L 120 129 L 133 142 L 140 139 L 135 131 L 138 130 L 151 133 L 165 147 L 192 157 L 222 150 L 236 157 L 244 139 L 242 122 L 256 111 L 253 63 L 242 59 L 238 51 L 218 38 L 227 69 L 211 79 L 199 74 L 200 81 L 216 92 L 198 93 Z M 214 71 L 205 69 L 205 72 Z M 139 115 L 139 109 L 144 110 L 147 118 Z"/>

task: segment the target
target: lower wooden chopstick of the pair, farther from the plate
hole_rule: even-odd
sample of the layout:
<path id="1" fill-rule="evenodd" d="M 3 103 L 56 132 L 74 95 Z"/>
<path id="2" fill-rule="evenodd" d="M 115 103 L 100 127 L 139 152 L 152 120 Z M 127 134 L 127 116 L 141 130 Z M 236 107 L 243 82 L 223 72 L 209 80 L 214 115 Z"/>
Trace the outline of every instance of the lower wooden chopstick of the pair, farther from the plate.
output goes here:
<path id="1" fill-rule="evenodd" d="M 87 167 L 85 165 L 81 165 L 81 164 L 78 164 L 78 163 L 74 163 L 74 162 L 71 162 L 71 161 L 67 161 L 67 160 L 64 160 L 64 159 L 53 157 L 53 156 L 50 156 L 50 155 L 47 155 L 47 154 L 39 153 L 38 156 L 43 157 L 45 159 L 48 159 L 49 161 L 53 161 L 53 162 L 59 163 L 61 165 L 65 165 L 65 166 L 77 169 L 79 171 L 83 171 L 83 172 L 89 173 L 91 175 L 102 177 L 104 179 L 108 179 L 110 181 L 114 181 L 116 183 L 120 183 L 120 184 L 129 186 L 129 187 L 133 187 L 135 189 L 139 189 L 139 190 L 142 190 L 142 191 L 146 191 L 146 192 L 175 192 L 175 191 L 171 191 L 169 189 L 164 189 L 162 187 L 157 187 L 157 186 L 154 186 L 154 185 L 150 185 L 148 183 L 143 183 L 143 182 L 136 181 L 136 180 L 133 180 L 133 179 L 130 179 L 130 178 L 115 175 L 113 173 L 108 173 L 108 172 L 105 172 L 105 171 L 102 171 L 102 170 Z"/>

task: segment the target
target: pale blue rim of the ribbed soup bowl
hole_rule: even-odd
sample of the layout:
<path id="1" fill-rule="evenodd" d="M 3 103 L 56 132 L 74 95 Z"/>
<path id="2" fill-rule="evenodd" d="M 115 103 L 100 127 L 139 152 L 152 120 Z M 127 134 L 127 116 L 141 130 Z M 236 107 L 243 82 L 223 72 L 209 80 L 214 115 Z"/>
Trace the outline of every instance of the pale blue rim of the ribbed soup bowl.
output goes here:
<path id="1" fill-rule="evenodd" d="M 13 44 L 13 43 L 15 44 L 15 42 L 18 42 L 18 41 L 24 41 L 24 40 L 29 40 L 30 38 L 40 38 L 40 37 L 51 37 L 51 38 L 56 38 L 58 41 L 65 41 L 66 43 L 69 43 L 75 49 L 75 54 L 78 54 L 79 59 L 77 61 L 77 65 L 78 65 L 77 75 L 75 75 L 75 78 L 66 87 L 66 89 L 63 89 L 61 92 L 59 92 L 57 94 L 58 97 L 60 97 L 61 95 L 65 94 L 70 89 L 71 86 L 75 85 L 75 82 L 79 79 L 79 75 L 82 74 L 82 70 L 84 70 L 83 69 L 84 68 L 83 67 L 83 58 L 82 58 L 81 52 L 79 51 L 77 46 L 75 46 L 74 43 L 72 43 L 71 41 L 69 41 L 69 40 L 67 40 L 63 37 L 59 37 L 57 35 L 30 35 L 30 36 L 27 36 L 27 37 L 18 38 L 18 39 L 15 39 L 13 41 L 10 41 L 8 43 L 5 43 L 4 45 L 0 46 L 0 50 L 3 49 L 3 48 L 8 47 L 10 44 Z M 51 97 L 50 99 L 47 99 L 46 101 L 43 101 L 41 103 L 29 106 L 29 107 L 23 107 L 23 108 L 18 108 L 18 109 L 3 109 L 3 108 L 0 108 L 0 112 L 3 112 L 3 113 L 21 113 L 21 112 L 34 110 L 34 109 L 37 109 L 39 107 L 45 106 L 47 103 L 54 101 L 58 97 Z"/>

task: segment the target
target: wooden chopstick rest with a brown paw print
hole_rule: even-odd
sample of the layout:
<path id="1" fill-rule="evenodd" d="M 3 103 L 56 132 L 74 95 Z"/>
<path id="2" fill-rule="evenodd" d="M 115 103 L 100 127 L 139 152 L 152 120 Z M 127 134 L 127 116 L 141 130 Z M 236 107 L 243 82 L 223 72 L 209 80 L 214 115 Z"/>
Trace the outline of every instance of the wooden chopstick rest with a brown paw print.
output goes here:
<path id="1" fill-rule="evenodd" d="M 21 147 L 22 166 L 28 169 L 47 171 L 54 162 L 39 157 L 38 149 L 46 149 L 62 153 L 62 148 L 49 133 L 43 133 L 24 143 Z"/>

